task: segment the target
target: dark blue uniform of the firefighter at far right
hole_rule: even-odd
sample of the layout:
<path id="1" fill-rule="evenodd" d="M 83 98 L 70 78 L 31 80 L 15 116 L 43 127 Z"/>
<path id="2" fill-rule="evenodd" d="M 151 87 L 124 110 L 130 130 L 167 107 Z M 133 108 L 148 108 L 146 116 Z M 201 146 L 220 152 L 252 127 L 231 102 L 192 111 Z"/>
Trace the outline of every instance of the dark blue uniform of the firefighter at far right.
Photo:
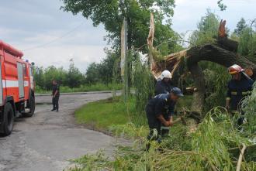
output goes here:
<path id="1" fill-rule="evenodd" d="M 251 94 L 254 81 L 244 77 L 241 80 L 230 80 L 227 84 L 227 99 L 230 99 L 231 112 L 240 111 L 240 102 L 244 97 Z"/>

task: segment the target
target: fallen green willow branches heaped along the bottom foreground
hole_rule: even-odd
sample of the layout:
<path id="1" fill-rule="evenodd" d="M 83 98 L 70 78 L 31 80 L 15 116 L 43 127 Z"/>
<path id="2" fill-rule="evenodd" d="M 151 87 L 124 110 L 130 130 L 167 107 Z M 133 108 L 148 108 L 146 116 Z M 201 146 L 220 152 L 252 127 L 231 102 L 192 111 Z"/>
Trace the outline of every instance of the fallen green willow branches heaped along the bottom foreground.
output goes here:
<path id="1" fill-rule="evenodd" d="M 136 138 L 134 145 L 119 146 L 113 159 L 100 151 L 95 155 L 74 160 L 80 168 L 71 170 L 234 170 L 239 153 L 230 149 L 254 145 L 234 128 L 234 122 L 221 108 L 213 108 L 194 133 L 188 134 L 184 125 L 175 125 L 171 137 L 160 147 L 152 143 L 150 151 L 144 151 L 143 127 L 126 125 L 124 132 Z M 141 128 L 141 129 L 140 129 Z M 238 149 L 238 148 L 237 148 Z M 239 151 L 238 151 L 239 152 Z M 255 162 L 245 160 L 242 170 L 254 170 Z"/>

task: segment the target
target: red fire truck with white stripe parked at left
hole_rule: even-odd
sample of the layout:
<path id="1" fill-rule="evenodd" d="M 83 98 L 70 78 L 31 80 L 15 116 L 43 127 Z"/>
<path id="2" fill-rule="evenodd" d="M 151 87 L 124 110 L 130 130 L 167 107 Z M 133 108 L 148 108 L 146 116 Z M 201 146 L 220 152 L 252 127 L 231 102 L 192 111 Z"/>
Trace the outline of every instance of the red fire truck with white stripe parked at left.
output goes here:
<path id="1" fill-rule="evenodd" d="M 0 40 L 0 134 L 12 132 L 14 118 L 33 116 L 33 66 L 23 53 Z M 2 81 L 1 81 L 2 80 Z"/>

